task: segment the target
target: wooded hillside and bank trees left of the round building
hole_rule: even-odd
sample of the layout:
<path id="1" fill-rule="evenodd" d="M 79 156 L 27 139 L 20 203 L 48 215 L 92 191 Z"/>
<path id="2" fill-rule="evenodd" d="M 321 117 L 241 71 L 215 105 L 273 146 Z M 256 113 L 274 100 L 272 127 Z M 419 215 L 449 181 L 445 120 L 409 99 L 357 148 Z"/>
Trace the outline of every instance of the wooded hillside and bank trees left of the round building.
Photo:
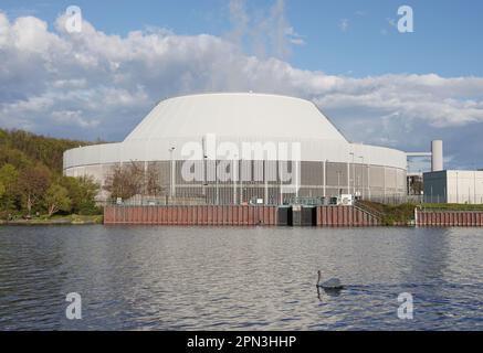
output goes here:
<path id="1" fill-rule="evenodd" d="M 0 129 L 0 218 L 97 214 L 99 185 L 62 174 L 63 152 L 86 145 Z"/>

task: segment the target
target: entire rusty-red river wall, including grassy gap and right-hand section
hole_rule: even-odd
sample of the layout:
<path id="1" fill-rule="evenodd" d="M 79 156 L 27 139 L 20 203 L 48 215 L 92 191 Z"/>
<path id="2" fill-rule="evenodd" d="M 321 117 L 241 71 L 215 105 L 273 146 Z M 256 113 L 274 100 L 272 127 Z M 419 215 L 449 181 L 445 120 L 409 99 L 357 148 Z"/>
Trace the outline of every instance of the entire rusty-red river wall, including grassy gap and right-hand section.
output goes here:
<path id="1" fill-rule="evenodd" d="M 464 205 L 126 206 L 104 207 L 104 224 L 185 226 L 483 226 L 483 211 Z M 418 211 L 416 211 L 418 210 Z M 419 215 L 419 217 L 418 217 Z"/>

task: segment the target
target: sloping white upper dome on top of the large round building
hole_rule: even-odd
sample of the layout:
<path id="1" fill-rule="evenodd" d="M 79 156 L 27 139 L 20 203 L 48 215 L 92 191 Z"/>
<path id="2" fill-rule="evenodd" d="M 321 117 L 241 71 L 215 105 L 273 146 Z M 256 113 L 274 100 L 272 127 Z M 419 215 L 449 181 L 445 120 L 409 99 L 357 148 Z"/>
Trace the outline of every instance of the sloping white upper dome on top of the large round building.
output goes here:
<path id="1" fill-rule="evenodd" d="M 202 94 L 162 100 L 125 142 L 199 138 L 207 133 L 220 138 L 323 139 L 347 143 L 313 103 L 252 93 Z"/>

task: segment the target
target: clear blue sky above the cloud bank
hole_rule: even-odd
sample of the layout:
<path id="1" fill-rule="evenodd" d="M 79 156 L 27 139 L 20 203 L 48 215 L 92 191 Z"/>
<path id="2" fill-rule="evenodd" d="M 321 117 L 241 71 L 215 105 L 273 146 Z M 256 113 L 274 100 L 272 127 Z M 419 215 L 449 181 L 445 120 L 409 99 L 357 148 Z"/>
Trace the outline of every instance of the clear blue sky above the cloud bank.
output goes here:
<path id="1" fill-rule="evenodd" d="M 11 15 L 33 14 L 53 23 L 70 4 L 82 8 L 96 29 L 126 34 L 147 26 L 177 34 L 223 35 L 230 30 L 225 0 L 18 1 L 4 0 Z M 252 0 L 253 12 L 273 1 Z M 397 9 L 414 10 L 416 32 L 401 35 L 390 25 Z M 444 77 L 483 75 L 483 1 L 474 0 L 292 0 L 286 17 L 304 39 L 287 58 L 297 67 L 351 76 L 437 73 Z M 346 31 L 340 21 L 347 20 Z"/>

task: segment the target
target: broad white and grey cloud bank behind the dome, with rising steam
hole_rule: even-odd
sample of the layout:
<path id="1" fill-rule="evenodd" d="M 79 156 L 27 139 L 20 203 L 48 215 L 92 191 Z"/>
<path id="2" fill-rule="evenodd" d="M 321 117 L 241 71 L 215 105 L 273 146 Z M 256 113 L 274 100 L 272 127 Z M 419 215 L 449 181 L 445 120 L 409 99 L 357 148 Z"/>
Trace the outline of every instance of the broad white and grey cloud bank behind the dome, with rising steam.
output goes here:
<path id="1" fill-rule="evenodd" d="M 244 33 L 250 20 L 243 1 L 232 3 L 238 3 L 232 11 L 239 23 L 233 33 Z M 421 149 L 434 131 L 455 139 L 455 129 L 471 132 L 471 126 L 483 124 L 481 77 L 353 78 L 300 69 L 275 57 L 290 45 L 287 38 L 297 40 L 283 1 L 269 18 L 262 22 L 279 23 L 271 34 L 274 54 L 256 56 L 237 44 L 234 39 L 243 34 L 181 36 L 150 29 L 118 36 L 88 22 L 82 33 L 69 34 L 62 17 L 52 30 L 34 17 L 9 21 L 0 12 L 0 125 L 120 140 L 159 99 L 217 90 L 312 99 L 353 140 L 399 148 Z"/>

